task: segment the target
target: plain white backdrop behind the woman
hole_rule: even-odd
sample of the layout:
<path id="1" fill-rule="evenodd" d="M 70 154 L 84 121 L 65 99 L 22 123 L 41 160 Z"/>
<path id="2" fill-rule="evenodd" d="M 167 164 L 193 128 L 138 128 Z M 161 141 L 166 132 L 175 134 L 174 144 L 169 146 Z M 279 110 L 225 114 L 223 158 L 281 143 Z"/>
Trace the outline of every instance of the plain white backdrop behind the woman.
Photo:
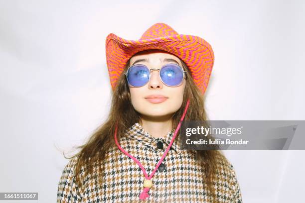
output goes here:
<path id="1" fill-rule="evenodd" d="M 111 32 L 135 40 L 164 22 L 207 40 L 211 120 L 304 120 L 304 19 L 302 0 L 1 0 L 0 192 L 56 201 L 68 162 L 60 150 L 108 114 Z M 225 154 L 244 203 L 304 201 L 305 151 Z"/>

